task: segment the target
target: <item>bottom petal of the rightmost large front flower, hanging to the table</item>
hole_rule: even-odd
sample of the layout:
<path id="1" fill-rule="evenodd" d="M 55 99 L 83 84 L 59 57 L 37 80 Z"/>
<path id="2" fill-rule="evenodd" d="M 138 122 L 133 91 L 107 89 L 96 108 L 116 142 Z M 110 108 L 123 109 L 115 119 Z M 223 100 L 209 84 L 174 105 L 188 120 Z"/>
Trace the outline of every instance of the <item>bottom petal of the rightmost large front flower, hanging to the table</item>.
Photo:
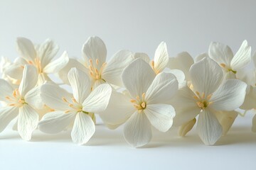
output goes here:
<path id="1" fill-rule="evenodd" d="M 205 109 L 199 114 L 197 131 L 205 145 L 214 145 L 223 130 L 214 113 Z"/>

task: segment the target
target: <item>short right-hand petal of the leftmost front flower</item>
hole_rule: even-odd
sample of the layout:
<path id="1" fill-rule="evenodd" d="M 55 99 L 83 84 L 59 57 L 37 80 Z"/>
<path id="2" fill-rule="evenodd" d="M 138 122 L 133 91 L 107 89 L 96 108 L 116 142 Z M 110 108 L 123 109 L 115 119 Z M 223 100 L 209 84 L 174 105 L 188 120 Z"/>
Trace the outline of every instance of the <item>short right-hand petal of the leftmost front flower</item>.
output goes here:
<path id="1" fill-rule="evenodd" d="M 26 103 L 28 103 L 33 108 L 43 108 L 44 103 L 41 98 L 41 86 L 36 86 L 28 91 L 24 99 Z"/>

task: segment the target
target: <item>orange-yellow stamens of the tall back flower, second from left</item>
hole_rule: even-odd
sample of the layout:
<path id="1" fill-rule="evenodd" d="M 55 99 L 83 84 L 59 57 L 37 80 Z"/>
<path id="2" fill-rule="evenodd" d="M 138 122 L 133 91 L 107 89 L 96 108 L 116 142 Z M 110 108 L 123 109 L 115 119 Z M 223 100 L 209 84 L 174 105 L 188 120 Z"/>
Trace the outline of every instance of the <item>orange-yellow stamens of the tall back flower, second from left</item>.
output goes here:
<path id="1" fill-rule="evenodd" d="M 99 80 L 102 79 L 102 72 L 103 69 L 105 69 L 107 63 L 104 62 L 101 66 L 100 66 L 100 60 L 96 59 L 95 60 L 96 64 L 93 64 L 92 59 L 89 60 L 89 69 L 90 69 L 90 76 L 92 77 L 92 79 L 95 80 Z M 104 79 L 102 79 L 103 81 L 105 81 Z"/>

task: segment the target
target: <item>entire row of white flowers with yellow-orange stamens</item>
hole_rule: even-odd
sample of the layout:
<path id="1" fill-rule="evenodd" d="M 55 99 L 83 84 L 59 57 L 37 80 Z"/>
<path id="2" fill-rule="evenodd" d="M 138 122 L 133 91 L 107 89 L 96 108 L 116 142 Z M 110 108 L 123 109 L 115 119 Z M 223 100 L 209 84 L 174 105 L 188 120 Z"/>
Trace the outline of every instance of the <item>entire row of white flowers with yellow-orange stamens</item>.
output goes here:
<path id="1" fill-rule="evenodd" d="M 238 108 L 256 108 L 256 55 L 251 57 L 246 40 L 235 55 L 228 45 L 212 42 L 196 60 L 188 52 L 169 57 L 161 42 L 154 60 L 120 50 L 107 62 L 98 37 L 82 46 L 81 60 L 67 52 L 55 59 L 58 45 L 52 40 L 34 45 L 17 38 L 16 45 L 20 57 L 0 60 L 0 132 L 15 119 L 23 140 L 31 140 L 36 128 L 46 133 L 71 128 L 73 142 L 83 145 L 95 133 L 98 114 L 107 128 L 124 124 L 124 138 L 133 147 L 150 142 L 152 127 L 166 132 L 175 125 L 185 136 L 196 119 L 203 143 L 214 145 L 233 125 Z M 251 60 L 255 69 L 245 71 Z"/>

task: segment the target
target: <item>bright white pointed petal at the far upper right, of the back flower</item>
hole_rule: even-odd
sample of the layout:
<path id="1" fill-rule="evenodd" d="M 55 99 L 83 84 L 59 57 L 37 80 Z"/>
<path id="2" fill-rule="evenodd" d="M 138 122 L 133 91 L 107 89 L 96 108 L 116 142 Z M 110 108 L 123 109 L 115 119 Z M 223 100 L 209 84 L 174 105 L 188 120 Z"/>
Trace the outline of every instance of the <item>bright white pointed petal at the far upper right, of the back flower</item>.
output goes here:
<path id="1" fill-rule="evenodd" d="M 248 45 L 247 40 L 242 42 L 238 52 L 231 61 L 231 68 L 233 70 L 242 69 L 247 66 L 251 61 L 251 47 Z"/>

